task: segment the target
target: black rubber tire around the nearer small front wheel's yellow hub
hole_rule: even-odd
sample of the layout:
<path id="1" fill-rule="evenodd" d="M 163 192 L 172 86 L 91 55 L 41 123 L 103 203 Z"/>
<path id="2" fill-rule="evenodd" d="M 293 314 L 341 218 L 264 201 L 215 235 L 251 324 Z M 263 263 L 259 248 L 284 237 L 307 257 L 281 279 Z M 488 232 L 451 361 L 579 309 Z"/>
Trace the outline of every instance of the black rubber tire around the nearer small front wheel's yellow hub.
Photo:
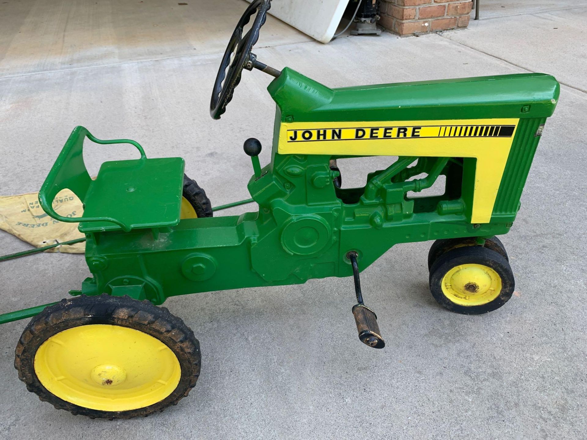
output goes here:
<path id="1" fill-rule="evenodd" d="M 441 287 L 443 277 L 454 266 L 463 264 L 479 264 L 495 270 L 501 277 L 500 294 L 491 302 L 480 306 L 463 306 L 448 299 Z M 510 300 L 515 287 L 514 273 L 508 260 L 500 253 L 483 246 L 466 246 L 444 253 L 434 262 L 430 270 L 429 282 L 430 292 L 438 304 L 446 307 L 451 312 L 462 314 L 483 314 L 499 309 Z"/>

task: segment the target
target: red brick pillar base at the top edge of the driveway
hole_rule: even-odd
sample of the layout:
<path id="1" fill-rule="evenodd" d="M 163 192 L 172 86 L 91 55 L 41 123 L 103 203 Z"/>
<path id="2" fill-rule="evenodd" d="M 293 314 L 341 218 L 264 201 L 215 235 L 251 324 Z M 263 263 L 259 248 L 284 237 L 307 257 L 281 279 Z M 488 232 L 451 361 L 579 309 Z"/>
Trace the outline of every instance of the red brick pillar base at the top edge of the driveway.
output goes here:
<path id="1" fill-rule="evenodd" d="M 379 25 L 399 35 L 466 28 L 471 0 L 381 0 Z"/>

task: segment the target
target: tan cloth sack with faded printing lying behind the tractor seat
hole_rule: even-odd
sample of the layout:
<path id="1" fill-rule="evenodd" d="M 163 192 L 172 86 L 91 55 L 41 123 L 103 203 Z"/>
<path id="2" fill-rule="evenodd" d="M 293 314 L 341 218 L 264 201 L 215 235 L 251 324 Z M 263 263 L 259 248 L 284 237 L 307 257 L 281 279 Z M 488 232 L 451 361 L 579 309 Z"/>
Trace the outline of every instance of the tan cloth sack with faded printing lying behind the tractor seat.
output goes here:
<path id="1" fill-rule="evenodd" d="M 0 229 L 31 243 L 37 248 L 82 238 L 77 223 L 59 222 L 50 218 L 39 204 L 39 193 L 0 196 Z M 53 209 L 60 215 L 79 217 L 82 202 L 69 189 L 60 191 L 53 200 Z M 57 246 L 45 252 L 84 253 L 86 243 Z"/>

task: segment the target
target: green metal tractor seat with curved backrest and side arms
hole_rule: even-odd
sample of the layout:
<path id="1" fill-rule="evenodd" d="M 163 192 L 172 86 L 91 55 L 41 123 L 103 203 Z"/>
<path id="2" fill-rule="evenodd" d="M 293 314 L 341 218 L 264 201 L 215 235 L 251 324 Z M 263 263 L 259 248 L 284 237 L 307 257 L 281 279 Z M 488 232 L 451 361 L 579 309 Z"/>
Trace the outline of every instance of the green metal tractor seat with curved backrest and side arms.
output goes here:
<path id="1" fill-rule="evenodd" d="M 132 144 L 140 159 L 104 162 L 92 180 L 83 163 L 85 138 L 97 144 Z M 180 157 L 147 159 L 143 148 L 129 139 L 99 140 L 76 127 L 39 191 L 47 214 L 63 222 L 79 222 L 80 232 L 129 232 L 165 228 L 180 221 L 184 160 Z M 53 209 L 53 199 L 69 188 L 84 205 L 81 217 L 64 217 Z"/>

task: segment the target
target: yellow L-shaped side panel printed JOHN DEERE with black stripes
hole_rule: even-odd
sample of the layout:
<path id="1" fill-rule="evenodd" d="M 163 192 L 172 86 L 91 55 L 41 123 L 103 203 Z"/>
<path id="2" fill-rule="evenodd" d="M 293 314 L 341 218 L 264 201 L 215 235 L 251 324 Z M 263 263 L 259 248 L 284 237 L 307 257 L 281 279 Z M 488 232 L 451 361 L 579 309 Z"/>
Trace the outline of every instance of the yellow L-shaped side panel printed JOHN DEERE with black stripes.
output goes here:
<path id="1" fill-rule="evenodd" d="M 518 119 L 281 123 L 279 154 L 475 157 L 473 223 L 488 223 Z"/>

